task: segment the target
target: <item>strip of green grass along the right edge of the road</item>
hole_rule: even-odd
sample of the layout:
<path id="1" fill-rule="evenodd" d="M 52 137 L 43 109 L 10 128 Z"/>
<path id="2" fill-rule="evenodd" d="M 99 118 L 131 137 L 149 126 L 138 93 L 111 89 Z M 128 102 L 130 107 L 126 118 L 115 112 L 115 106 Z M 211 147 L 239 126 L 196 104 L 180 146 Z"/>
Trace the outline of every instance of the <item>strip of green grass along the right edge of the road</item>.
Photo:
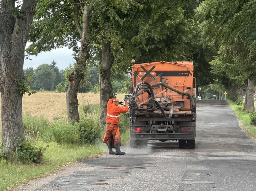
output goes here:
<path id="1" fill-rule="evenodd" d="M 243 111 L 244 106 L 237 106 L 234 102 L 227 99 L 231 109 L 237 115 L 240 122 L 243 123 L 243 126 L 250 132 L 254 137 L 256 137 L 256 126 L 250 124 L 249 114 Z"/>

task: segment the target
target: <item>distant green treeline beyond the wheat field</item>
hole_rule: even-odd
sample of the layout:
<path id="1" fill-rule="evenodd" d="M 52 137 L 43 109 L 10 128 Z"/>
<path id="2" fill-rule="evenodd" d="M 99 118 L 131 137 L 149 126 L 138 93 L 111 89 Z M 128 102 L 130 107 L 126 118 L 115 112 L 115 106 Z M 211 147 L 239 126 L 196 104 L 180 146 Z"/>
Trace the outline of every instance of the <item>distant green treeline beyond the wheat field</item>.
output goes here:
<path id="1" fill-rule="evenodd" d="M 31 90 L 54 91 L 57 85 L 61 85 L 66 90 L 65 70 L 57 67 L 54 60 L 50 64 L 41 64 L 36 69 L 28 67 L 24 69 L 25 77 L 32 75 L 30 80 Z M 78 92 L 99 92 L 99 73 L 96 66 L 89 68 L 90 76 L 80 82 Z M 131 83 L 129 75 L 123 76 L 123 79 L 112 79 L 113 93 L 127 93 L 127 88 Z"/>

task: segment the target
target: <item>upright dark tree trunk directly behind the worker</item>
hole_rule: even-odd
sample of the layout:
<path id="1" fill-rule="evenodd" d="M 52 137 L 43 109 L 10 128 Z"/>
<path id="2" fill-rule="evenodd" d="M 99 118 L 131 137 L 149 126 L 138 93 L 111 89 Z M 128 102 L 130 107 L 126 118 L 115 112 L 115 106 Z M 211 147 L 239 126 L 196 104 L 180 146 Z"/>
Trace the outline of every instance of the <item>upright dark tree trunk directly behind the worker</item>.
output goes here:
<path id="1" fill-rule="evenodd" d="M 110 40 L 107 42 L 104 40 L 102 41 L 102 62 L 99 66 L 99 92 L 100 106 L 102 109 L 100 114 L 100 122 L 102 125 L 106 124 L 108 100 L 113 97 L 110 70 L 114 62 L 114 56 L 111 52 L 110 43 Z"/>

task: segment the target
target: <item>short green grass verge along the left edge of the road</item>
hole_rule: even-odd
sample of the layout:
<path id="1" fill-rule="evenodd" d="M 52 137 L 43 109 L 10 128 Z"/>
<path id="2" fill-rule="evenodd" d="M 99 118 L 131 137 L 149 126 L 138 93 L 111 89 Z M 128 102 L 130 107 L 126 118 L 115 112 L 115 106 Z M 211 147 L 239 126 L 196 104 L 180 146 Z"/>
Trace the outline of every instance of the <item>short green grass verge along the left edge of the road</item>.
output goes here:
<path id="1" fill-rule="evenodd" d="M 103 138 L 103 137 L 102 137 Z M 128 129 L 121 134 L 122 144 L 128 143 L 130 132 Z M 98 156 L 107 151 L 106 144 L 98 141 L 95 145 L 61 145 L 56 142 L 45 143 L 37 142 L 37 145 L 45 147 L 49 145 L 44 153 L 43 162 L 40 165 L 22 163 L 9 163 L 5 160 L 0 161 L 0 191 L 9 189 L 17 183 L 25 183 L 28 179 L 42 177 L 60 169 L 63 165 Z"/>

